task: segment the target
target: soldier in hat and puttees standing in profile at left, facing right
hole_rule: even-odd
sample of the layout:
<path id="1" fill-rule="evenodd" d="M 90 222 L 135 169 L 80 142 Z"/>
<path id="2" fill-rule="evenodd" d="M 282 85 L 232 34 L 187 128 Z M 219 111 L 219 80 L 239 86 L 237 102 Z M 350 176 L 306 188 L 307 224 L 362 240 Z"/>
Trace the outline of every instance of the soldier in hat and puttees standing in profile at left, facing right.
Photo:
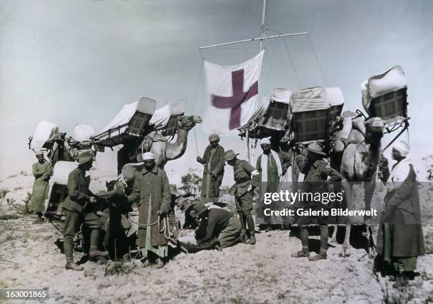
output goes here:
<path id="1" fill-rule="evenodd" d="M 88 189 L 90 178 L 86 178 L 86 171 L 90 170 L 92 165 L 93 154 L 90 151 L 82 152 L 79 155 L 78 168 L 69 173 L 69 195 L 63 204 L 66 213 L 63 230 L 64 255 L 67 259 L 66 269 L 83 270 L 83 267 L 74 263 L 74 245 L 72 243 L 72 239 L 80 228 L 81 218 L 84 220 L 84 227 L 91 230 L 89 259 L 96 261 L 96 259 L 108 256 L 108 252 L 98 250 L 100 228 L 103 226 L 103 221 L 88 205 L 96 203 L 95 195 Z"/>

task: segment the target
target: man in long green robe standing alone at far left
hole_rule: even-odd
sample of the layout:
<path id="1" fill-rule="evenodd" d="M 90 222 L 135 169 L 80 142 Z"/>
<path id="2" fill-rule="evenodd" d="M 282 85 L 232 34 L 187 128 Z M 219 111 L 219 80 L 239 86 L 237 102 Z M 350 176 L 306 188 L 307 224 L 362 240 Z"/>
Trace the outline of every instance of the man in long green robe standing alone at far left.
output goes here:
<path id="1" fill-rule="evenodd" d="M 49 161 L 45 161 L 44 153 L 36 151 L 37 163 L 33 164 L 33 176 L 35 182 L 33 183 L 33 192 L 30 199 L 28 208 L 37 214 L 37 220 L 42 223 L 42 212 L 45 210 L 45 199 L 48 197 L 50 185 L 48 181 L 52 175 L 52 166 Z"/>

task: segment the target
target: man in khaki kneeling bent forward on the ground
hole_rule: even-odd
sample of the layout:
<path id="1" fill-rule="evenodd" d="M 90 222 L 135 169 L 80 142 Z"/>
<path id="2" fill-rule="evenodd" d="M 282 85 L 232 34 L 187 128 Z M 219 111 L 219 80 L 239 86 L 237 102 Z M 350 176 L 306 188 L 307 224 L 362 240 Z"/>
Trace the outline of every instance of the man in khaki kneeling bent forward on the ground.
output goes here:
<path id="1" fill-rule="evenodd" d="M 214 238 L 218 239 L 221 248 L 230 247 L 241 242 L 241 222 L 233 213 L 222 208 L 207 207 L 200 201 L 192 207 L 195 211 L 195 218 L 206 218 L 204 236 L 197 240 L 197 245 L 211 242 Z"/>

